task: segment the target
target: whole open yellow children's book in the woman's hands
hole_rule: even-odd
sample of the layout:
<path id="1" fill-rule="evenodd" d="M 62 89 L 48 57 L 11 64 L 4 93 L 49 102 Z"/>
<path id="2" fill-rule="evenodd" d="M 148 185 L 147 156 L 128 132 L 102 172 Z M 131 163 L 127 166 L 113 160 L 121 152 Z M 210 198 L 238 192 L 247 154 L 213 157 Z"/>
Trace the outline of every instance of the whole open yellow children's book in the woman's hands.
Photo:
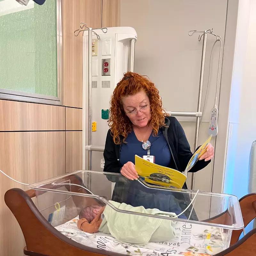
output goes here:
<path id="1" fill-rule="evenodd" d="M 135 155 L 135 169 L 138 175 L 149 184 L 160 185 L 169 188 L 182 188 L 186 179 L 187 172 L 196 164 L 198 159 L 206 152 L 212 135 L 204 144 L 196 150 L 188 162 L 184 173 L 177 170 L 154 164 Z"/>

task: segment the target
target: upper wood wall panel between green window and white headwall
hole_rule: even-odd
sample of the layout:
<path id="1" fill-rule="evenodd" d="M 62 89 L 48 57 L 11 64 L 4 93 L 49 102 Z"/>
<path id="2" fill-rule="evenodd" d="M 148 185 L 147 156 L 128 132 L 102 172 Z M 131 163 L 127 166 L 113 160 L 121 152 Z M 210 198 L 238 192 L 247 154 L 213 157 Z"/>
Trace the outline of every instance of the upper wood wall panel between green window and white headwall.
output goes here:
<path id="1" fill-rule="evenodd" d="M 74 31 L 84 22 L 91 28 L 101 27 L 101 0 L 62 1 L 63 102 L 65 106 L 82 108 L 83 33 Z"/>

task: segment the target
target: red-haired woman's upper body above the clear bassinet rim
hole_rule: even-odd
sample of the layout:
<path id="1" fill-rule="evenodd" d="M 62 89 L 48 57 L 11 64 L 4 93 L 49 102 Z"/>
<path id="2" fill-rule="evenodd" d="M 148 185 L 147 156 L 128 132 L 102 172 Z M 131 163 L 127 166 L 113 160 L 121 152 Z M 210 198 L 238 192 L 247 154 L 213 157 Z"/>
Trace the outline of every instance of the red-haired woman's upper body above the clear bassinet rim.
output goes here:
<path id="1" fill-rule="evenodd" d="M 124 74 L 110 101 L 108 122 L 104 172 L 121 172 L 126 178 L 137 180 L 135 155 L 148 155 L 146 141 L 150 142 L 149 153 L 156 164 L 180 172 L 185 170 L 193 155 L 180 123 L 165 113 L 158 90 L 144 76 L 132 72 Z M 190 172 L 203 169 L 213 156 L 214 148 L 209 144 Z"/>

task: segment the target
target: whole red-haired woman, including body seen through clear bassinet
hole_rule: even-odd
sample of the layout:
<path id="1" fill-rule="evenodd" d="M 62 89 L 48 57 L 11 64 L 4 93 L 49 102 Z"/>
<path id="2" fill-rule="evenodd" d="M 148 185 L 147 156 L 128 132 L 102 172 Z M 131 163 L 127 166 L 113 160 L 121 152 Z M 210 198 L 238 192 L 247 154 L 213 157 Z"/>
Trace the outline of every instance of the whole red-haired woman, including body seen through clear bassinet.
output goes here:
<path id="1" fill-rule="evenodd" d="M 135 155 L 143 157 L 149 153 L 154 156 L 156 164 L 180 172 L 185 170 L 193 155 L 180 123 L 162 108 L 162 100 L 155 85 L 136 73 L 124 74 L 110 101 L 108 122 L 110 129 L 103 154 L 104 172 L 121 172 L 130 180 L 113 181 L 111 177 L 108 178 L 116 182 L 112 200 L 165 212 L 176 207 L 182 211 L 186 209 L 190 202 L 188 195 L 166 189 L 149 189 L 139 182 L 132 182 L 139 178 L 134 165 Z M 209 144 L 207 152 L 190 171 L 203 169 L 213 156 L 214 149 Z M 187 188 L 186 183 L 183 188 Z M 189 211 L 185 212 L 187 217 L 189 214 Z M 197 220 L 194 210 L 190 219 Z"/>

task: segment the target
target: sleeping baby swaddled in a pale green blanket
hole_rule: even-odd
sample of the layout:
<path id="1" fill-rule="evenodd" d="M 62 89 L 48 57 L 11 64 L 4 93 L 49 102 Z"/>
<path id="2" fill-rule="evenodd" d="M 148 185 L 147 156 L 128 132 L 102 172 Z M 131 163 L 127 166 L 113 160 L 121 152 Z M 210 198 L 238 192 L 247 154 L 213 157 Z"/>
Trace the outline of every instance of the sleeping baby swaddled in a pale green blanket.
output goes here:
<path id="1" fill-rule="evenodd" d="M 79 214 L 77 227 L 87 233 L 100 231 L 111 234 L 118 241 L 131 244 L 165 242 L 176 236 L 173 228 L 175 220 L 136 214 L 177 217 L 175 213 L 162 212 L 158 209 L 145 209 L 143 206 L 133 207 L 114 201 L 109 202 L 117 209 L 129 211 L 131 214 L 118 212 L 109 205 L 105 207 L 87 206 Z"/>

